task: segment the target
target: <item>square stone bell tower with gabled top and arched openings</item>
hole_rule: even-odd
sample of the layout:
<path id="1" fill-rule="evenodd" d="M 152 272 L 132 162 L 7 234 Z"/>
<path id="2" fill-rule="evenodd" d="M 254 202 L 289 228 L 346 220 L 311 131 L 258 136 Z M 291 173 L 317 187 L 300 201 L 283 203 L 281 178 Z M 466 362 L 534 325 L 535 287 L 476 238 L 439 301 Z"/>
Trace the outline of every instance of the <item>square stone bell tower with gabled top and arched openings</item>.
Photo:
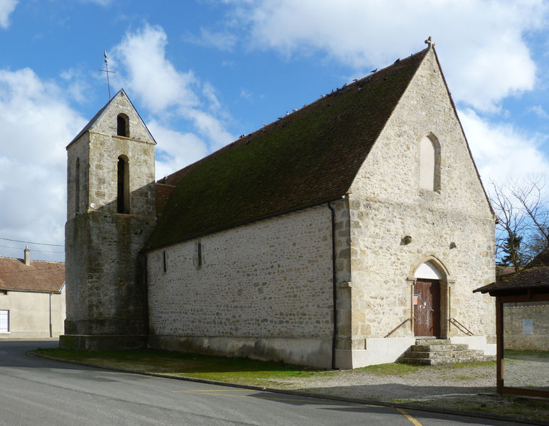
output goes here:
<path id="1" fill-rule="evenodd" d="M 146 346 L 156 142 L 120 90 L 67 146 L 65 349 Z"/>

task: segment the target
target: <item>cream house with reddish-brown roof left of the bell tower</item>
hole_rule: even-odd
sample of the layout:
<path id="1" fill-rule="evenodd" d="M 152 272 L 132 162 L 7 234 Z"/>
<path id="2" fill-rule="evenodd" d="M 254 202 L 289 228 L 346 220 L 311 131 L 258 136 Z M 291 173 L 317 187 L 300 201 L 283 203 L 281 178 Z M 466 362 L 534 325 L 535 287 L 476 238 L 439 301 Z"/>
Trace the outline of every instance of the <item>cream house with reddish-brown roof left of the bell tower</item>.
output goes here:
<path id="1" fill-rule="evenodd" d="M 58 337 L 65 321 L 65 263 L 0 257 L 0 339 Z"/>

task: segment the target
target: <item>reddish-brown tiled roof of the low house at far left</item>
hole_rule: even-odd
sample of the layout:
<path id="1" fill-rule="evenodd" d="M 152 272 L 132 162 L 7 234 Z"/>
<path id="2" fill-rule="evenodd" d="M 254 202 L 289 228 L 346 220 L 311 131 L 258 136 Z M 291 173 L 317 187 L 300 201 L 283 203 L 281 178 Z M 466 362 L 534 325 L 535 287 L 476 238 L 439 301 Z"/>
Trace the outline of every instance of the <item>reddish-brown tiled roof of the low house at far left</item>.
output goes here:
<path id="1" fill-rule="evenodd" d="M 0 257 L 0 290 L 58 292 L 65 283 L 65 263 Z"/>

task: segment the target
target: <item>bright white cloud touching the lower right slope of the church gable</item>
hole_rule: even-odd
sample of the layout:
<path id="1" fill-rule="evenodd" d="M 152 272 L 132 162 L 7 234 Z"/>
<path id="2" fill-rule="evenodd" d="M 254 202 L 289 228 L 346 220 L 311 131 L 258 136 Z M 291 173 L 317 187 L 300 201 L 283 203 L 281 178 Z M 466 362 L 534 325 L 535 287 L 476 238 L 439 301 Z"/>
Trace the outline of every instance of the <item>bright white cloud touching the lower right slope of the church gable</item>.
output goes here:
<path id="1" fill-rule="evenodd" d="M 489 124 L 472 109 L 459 114 L 485 187 L 491 181 L 520 180 L 549 170 L 542 150 L 546 136 L 522 134 L 510 124 Z"/>

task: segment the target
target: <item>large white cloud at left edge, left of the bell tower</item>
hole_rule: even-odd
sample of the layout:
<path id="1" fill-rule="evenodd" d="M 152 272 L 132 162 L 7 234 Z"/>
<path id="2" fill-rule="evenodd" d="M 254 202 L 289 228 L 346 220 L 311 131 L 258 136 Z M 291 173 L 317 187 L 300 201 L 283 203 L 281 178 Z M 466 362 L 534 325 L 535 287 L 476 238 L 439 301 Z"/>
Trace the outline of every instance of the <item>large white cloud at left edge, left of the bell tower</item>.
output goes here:
<path id="1" fill-rule="evenodd" d="M 28 68 L 0 70 L 2 238 L 63 244 L 65 146 L 85 123 L 65 102 L 57 85 L 41 81 Z M 36 249 L 49 250 L 41 246 Z M 0 252 L 21 256 L 5 248 Z M 33 257 L 63 258 L 60 253 L 37 253 Z"/>

